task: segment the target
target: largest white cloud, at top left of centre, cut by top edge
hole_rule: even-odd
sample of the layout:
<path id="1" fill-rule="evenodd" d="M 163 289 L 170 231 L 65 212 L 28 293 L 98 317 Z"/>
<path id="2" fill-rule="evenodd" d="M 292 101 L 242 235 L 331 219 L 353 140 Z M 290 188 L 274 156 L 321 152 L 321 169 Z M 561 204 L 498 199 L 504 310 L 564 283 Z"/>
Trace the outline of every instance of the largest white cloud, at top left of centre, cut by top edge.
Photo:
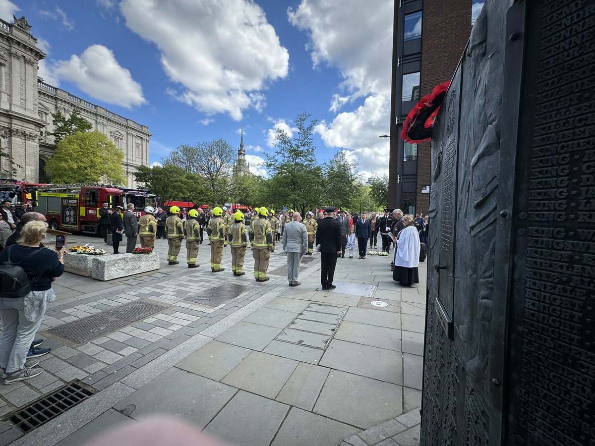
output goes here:
<path id="1" fill-rule="evenodd" d="M 289 53 L 252 0 L 123 0 L 126 25 L 161 52 L 174 97 L 208 114 L 261 111 Z M 231 13 L 233 12 L 233 13 Z"/>

